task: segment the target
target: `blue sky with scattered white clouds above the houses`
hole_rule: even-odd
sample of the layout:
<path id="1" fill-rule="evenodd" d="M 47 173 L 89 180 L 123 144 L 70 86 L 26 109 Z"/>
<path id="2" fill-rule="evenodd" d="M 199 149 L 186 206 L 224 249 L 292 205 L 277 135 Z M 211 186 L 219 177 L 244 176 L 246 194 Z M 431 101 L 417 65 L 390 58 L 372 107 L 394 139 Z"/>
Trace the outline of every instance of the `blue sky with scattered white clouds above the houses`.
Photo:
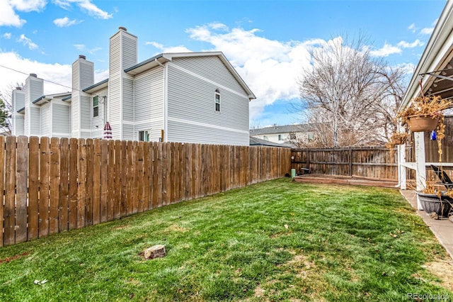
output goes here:
<path id="1" fill-rule="evenodd" d="M 299 123 L 291 103 L 310 47 L 361 33 L 374 56 L 410 77 L 445 3 L 0 0 L 0 91 L 30 73 L 70 86 L 79 55 L 94 62 L 96 81 L 105 79 L 109 38 L 124 26 L 139 39 L 139 62 L 160 52 L 221 50 L 257 96 L 251 126 Z M 68 90 L 51 82 L 46 94 Z"/>

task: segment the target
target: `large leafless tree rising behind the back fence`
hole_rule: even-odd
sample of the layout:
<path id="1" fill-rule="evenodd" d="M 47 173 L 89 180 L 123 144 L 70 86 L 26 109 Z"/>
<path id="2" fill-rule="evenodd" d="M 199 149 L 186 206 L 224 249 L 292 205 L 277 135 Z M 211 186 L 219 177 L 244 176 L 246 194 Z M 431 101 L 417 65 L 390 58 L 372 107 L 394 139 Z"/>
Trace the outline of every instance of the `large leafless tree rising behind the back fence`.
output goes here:
<path id="1" fill-rule="evenodd" d="M 405 87 L 401 69 L 372 57 L 365 38 L 329 40 L 310 52 L 299 79 L 300 108 L 316 147 L 376 145 L 393 132 Z"/>

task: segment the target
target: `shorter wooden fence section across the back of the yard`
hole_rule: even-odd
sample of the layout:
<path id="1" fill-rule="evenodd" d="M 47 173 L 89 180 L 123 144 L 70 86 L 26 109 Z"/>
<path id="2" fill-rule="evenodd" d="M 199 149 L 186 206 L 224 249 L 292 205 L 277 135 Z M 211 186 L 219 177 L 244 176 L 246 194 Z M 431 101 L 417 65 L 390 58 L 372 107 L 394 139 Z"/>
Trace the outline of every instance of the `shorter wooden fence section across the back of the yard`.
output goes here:
<path id="1" fill-rule="evenodd" d="M 396 153 L 386 147 L 297 149 L 291 152 L 291 167 L 298 173 L 398 180 Z"/>

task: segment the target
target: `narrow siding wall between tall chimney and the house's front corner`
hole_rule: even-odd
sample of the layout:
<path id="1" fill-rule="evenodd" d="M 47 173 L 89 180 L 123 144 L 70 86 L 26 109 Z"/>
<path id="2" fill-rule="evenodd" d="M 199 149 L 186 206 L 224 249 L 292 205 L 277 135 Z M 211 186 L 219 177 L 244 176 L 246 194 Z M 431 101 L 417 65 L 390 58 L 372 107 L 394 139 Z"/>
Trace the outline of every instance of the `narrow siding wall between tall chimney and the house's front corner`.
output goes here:
<path id="1" fill-rule="evenodd" d="M 135 79 L 135 138 L 151 129 L 151 140 L 159 140 L 164 129 L 164 69 L 154 68 Z"/>

